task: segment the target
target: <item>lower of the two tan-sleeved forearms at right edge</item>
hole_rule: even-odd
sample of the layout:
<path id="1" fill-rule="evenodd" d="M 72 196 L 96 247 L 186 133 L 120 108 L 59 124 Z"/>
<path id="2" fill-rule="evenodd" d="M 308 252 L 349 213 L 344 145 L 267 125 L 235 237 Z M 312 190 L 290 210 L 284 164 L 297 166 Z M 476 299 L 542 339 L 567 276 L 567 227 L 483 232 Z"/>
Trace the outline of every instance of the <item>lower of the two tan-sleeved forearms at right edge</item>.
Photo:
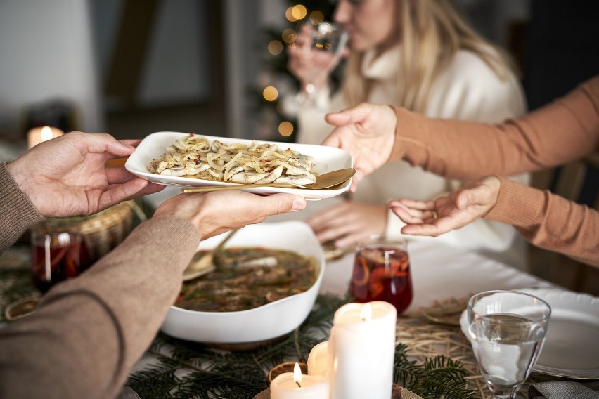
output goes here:
<path id="1" fill-rule="evenodd" d="M 598 211 L 502 178 L 496 205 L 485 217 L 514 225 L 537 247 L 599 266 Z"/>

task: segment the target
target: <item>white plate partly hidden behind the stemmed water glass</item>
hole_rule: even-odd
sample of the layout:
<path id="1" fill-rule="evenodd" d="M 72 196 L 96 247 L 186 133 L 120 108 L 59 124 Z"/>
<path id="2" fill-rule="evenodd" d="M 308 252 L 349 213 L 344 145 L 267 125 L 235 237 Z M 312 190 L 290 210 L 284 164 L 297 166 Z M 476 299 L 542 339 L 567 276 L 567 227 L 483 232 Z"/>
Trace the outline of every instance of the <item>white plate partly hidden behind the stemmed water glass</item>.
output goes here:
<path id="1" fill-rule="evenodd" d="M 543 351 L 533 370 L 556 377 L 599 379 L 599 298 L 550 288 L 517 289 L 551 306 Z M 468 315 L 460 317 L 468 337 Z"/>

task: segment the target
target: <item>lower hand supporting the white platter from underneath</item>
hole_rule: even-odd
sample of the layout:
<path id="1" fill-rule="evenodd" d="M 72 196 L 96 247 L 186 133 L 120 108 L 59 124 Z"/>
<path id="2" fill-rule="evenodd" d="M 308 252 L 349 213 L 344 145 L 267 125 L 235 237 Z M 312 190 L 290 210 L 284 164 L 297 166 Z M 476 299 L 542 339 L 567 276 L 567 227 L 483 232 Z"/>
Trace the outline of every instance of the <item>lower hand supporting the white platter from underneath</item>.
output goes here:
<path id="1" fill-rule="evenodd" d="M 299 211 L 306 199 L 291 194 L 261 196 L 241 190 L 179 194 L 157 207 L 153 218 L 174 216 L 191 221 L 200 240 L 248 224 L 260 223 L 266 216 Z"/>

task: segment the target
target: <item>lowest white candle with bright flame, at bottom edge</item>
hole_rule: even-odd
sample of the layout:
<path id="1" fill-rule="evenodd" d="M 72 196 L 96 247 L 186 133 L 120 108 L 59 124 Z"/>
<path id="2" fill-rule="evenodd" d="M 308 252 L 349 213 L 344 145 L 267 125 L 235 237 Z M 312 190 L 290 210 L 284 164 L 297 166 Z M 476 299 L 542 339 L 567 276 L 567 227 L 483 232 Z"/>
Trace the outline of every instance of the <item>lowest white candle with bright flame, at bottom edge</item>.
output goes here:
<path id="1" fill-rule="evenodd" d="M 283 373 L 271 382 L 271 399 L 328 399 L 328 381 L 302 374 L 295 363 L 292 373 Z"/>

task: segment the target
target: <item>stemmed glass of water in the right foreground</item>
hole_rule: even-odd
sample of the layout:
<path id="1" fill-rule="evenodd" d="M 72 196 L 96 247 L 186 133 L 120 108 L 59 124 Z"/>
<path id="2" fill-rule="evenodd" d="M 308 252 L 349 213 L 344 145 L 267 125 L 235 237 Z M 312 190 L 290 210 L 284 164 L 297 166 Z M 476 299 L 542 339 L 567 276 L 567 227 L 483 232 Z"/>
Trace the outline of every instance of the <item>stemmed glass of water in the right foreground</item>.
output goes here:
<path id="1" fill-rule="evenodd" d="M 468 333 L 491 396 L 515 398 L 539 358 L 550 306 L 516 291 L 487 291 L 468 301 Z"/>

